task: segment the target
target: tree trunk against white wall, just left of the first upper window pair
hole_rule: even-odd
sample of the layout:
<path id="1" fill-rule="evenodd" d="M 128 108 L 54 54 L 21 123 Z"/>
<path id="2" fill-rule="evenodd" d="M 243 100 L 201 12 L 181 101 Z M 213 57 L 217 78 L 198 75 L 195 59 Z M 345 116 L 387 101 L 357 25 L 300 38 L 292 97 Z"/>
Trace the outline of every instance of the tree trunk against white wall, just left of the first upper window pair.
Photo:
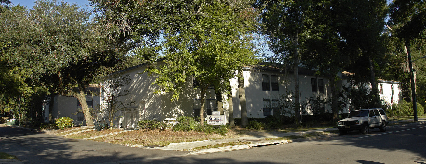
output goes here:
<path id="1" fill-rule="evenodd" d="M 245 102 L 243 68 L 241 68 L 241 70 L 238 70 L 238 90 L 240 95 L 240 106 L 241 106 L 241 126 L 246 127 L 248 124 L 248 117 L 247 117 L 247 104 Z"/>

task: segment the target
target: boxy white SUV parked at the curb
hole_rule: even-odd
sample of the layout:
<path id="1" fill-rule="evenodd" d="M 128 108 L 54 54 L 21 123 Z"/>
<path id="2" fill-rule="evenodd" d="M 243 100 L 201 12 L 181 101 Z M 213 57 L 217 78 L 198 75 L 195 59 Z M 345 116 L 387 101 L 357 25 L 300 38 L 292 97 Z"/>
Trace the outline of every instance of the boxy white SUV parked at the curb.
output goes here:
<path id="1" fill-rule="evenodd" d="M 337 128 L 340 135 L 346 135 L 350 130 L 360 130 L 361 133 L 367 134 L 368 129 L 378 127 L 380 131 L 386 131 L 388 124 L 388 116 L 382 108 L 353 110 L 349 113 L 348 118 L 337 122 Z"/>

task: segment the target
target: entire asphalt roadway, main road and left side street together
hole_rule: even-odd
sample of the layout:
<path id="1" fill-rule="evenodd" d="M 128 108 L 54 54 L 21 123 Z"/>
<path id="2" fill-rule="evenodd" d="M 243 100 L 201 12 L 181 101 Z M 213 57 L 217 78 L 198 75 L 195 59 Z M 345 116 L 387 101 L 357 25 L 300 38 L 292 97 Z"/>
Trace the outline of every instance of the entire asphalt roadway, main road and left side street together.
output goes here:
<path id="1" fill-rule="evenodd" d="M 189 155 L 187 151 L 127 147 L 0 127 L 1 152 L 28 164 L 426 164 L 426 124 L 367 135 L 357 131 L 312 141 Z"/>

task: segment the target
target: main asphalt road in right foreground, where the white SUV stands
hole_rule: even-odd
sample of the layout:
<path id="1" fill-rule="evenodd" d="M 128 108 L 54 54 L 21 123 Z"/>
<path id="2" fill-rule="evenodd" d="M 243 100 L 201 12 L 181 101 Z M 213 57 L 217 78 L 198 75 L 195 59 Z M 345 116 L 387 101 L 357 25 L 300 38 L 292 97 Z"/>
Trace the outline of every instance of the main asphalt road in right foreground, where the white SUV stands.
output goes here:
<path id="1" fill-rule="evenodd" d="M 151 158 L 132 163 L 174 164 L 426 164 L 426 124 L 395 127 L 367 135 L 346 136 L 254 147 L 244 150 Z M 130 161 L 128 161 L 130 162 Z"/>

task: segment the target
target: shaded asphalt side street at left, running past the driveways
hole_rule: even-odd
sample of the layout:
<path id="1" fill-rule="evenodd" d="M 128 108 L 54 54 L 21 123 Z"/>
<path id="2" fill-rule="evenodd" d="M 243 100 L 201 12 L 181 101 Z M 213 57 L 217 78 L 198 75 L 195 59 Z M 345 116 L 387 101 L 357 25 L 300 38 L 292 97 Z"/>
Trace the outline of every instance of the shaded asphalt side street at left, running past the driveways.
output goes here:
<path id="1" fill-rule="evenodd" d="M 24 164 L 116 163 L 189 153 L 69 139 L 16 127 L 0 127 L 0 151 L 17 156 Z"/>

